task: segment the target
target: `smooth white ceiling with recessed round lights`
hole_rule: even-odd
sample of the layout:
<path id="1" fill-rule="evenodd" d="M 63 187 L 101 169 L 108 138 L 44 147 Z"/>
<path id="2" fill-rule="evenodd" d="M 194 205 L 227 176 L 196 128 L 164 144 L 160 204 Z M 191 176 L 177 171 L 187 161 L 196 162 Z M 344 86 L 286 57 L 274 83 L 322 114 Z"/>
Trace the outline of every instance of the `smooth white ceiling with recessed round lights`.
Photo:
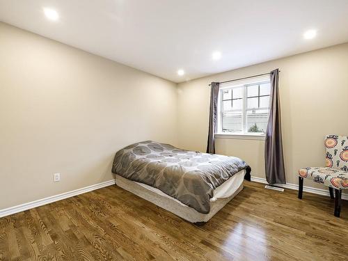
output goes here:
<path id="1" fill-rule="evenodd" d="M 0 0 L 2 22 L 175 82 L 348 42 L 347 17 L 348 0 Z"/>

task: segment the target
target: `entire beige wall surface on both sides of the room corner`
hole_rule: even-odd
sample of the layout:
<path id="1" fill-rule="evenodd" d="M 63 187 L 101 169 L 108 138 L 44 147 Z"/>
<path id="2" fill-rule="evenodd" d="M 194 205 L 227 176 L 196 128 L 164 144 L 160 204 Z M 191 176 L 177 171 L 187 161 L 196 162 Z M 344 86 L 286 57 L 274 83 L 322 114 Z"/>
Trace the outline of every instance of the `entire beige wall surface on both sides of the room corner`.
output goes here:
<path id="1" fill-rule="evenodd" d="M 114 153 L 156 140 L 205 151 L 211 81 L 280 68 L 287 182 L 348 134 L 348 44 L 175 84 L 0 23 L 0 209 L 111 180 Z M 263 141 L 218 139 L 264 177 Z M 53 182 L 61 173 L 61 182 Z M 306 182 L 312 186 L 313 183 Z M 319 186 L 315 186 L 319 187 Z M 321 188 L 321 187 L 319 187 Z"/>

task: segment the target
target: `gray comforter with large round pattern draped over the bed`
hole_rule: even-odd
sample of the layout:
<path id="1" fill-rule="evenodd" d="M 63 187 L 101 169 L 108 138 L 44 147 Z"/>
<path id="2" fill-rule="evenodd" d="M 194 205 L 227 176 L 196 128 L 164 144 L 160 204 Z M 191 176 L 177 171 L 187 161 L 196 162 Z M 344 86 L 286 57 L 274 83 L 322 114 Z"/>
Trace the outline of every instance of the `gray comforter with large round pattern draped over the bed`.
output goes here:
<path id="1" fill-rule="evenodd" d="M 237 157 L 143 141 L 119 150 L 112 172 L 155 187 L 198 212 L 209 213 L 214 189 L 245 168 L 247 164 Z"/>

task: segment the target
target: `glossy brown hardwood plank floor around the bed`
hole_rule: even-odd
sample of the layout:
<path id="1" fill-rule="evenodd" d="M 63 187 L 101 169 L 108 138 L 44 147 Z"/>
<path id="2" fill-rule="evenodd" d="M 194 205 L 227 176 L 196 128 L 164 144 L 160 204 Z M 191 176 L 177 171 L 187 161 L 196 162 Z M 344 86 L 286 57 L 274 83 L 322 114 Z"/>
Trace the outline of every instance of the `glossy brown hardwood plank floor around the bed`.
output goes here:
<path id="1" fill-rule="evenodd" d="M 244 182 L 195 226 L 116 186 L 0 219 L 0 260 L 348 260 L 348 202 Z"/>

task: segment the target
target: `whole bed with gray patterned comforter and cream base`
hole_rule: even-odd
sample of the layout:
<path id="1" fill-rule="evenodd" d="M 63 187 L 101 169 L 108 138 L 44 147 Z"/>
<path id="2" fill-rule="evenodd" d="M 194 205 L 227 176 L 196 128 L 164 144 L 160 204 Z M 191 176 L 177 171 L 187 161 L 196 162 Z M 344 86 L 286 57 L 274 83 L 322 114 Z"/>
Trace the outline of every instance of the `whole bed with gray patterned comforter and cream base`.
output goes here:
<path id="1" fill-rule="evenodd" d="M 237 157 L 143 141 L 116 152 L 116 184 L 192 223 L 205 223 L 243 189 L 251 168 Z"/>

